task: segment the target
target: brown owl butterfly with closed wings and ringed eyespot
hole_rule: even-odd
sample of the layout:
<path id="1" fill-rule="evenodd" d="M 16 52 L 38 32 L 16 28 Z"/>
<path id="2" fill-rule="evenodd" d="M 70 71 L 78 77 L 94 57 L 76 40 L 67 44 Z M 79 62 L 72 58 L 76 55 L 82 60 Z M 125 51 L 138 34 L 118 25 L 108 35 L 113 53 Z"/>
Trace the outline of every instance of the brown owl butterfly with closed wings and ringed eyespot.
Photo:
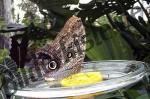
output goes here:
<path id="1" fill-rule="evenodd" d="M 47 80 L 77 73 L 85 57 L 85 29 L 80 18 L 72 16 L 51 44 L 36 52 L 37 65 Z"/>

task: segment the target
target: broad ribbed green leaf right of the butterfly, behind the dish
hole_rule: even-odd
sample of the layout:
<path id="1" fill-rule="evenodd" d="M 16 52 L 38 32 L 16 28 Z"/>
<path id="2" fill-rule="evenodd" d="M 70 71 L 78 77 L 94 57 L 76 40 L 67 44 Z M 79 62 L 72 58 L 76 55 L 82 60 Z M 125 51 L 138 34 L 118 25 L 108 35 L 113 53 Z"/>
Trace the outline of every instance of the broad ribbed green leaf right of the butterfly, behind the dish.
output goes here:
<path id="1" fill-rule="evenodd" d="M 87 42 L 87 56 L 91 60 L 133 59 L 127 42 L 108 24 L 87 27 Z"/>

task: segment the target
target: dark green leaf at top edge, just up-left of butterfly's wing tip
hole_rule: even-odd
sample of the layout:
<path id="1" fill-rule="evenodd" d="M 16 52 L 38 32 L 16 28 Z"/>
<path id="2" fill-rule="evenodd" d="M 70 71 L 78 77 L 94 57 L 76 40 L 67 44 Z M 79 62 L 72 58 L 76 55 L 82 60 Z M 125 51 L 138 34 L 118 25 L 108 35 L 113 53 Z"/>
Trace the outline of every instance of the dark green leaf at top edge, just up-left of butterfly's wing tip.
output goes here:
<path id="1" fill-rule="evenodd" d="M 70 11 L 66 5 L 68 4 L 78 4 L 79 0 L 31 0 L 37 4 L 40 10 L 46 9 L 50 11 L 51 14 L 58 14 L 60 16 L 72 15 L 75 11 Z M 63 8 L 64 7 L 64 8 Z"/>

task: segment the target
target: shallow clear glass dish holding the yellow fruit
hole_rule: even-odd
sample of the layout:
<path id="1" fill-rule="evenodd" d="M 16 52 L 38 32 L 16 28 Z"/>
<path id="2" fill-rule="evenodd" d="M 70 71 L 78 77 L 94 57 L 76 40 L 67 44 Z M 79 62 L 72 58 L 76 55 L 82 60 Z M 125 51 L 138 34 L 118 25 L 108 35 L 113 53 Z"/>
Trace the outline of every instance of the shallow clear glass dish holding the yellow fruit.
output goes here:
<path id="1" fill-rule="evenodd" d="M 28 98 L 66 98 L 87 94 L 106 94 L 124 87 L 129 87 L 145 76 L 145 64 L 139 61 L 95 61 L 83 63 L 81 72 L 101 72 L 104 80 L 96 84 L 76 87 L 62 87 L 59 83 L 50 87 L 45 81 L 37 81 L 14 95 Z"/>

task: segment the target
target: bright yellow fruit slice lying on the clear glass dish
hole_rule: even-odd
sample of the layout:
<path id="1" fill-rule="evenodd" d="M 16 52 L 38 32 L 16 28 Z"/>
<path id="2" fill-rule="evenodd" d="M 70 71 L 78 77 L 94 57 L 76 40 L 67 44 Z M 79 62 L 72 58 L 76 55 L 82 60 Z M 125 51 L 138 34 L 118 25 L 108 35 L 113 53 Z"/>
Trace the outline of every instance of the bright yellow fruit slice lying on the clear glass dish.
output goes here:
<path id="1" fill-rule="evenodd" d="M 77 73 L 61 80 L 64 87 L 73 87 L 79 85 L 89 85 L 103 80 L 100 72 Z"/>

